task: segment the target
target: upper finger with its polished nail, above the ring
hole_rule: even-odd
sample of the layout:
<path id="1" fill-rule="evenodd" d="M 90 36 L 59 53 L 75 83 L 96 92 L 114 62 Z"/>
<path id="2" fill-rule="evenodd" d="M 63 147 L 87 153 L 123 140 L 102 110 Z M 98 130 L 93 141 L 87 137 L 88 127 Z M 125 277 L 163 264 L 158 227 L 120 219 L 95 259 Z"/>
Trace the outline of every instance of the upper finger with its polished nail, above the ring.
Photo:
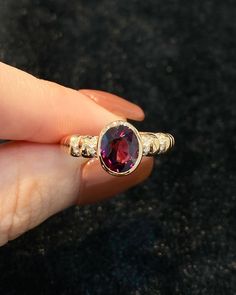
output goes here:
<path id="1" fill-rule="evenodd" d="M 96 100 L 96 94 L 92 94 L 93 99 L 90 94 L 39 80 L 0 63 L 0 138 L 55 143 L 68 134 L 98 134 L 119 116 L 143 117 L 139 107 L 128 102 L 124 105 L 124 100 L 116 96 L 99 93 Z M 106 100 L 119 116 L 105 109 L 109 105 Z"/>

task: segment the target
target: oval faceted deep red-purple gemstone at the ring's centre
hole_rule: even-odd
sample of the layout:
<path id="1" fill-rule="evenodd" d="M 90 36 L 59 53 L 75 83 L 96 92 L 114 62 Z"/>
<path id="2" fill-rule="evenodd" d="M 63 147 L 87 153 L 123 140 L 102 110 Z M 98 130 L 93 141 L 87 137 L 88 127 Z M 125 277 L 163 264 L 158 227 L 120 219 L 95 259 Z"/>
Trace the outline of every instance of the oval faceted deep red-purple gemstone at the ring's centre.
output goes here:
<path id="1" fill-rule="evenodd" d="M 101 157 L 107 168 L 122 173 L 130 170 L 139 156 L 139 142 L 128 126 L 109 128 L 101 139 Z"/>

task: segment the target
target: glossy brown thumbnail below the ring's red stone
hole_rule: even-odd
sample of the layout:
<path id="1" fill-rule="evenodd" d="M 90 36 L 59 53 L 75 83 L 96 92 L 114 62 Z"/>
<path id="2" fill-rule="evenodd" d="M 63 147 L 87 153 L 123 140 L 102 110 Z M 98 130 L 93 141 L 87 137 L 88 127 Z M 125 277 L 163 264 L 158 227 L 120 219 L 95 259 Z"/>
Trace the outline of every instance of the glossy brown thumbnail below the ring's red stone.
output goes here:
<path id="1" fill-rule="evenodd" d="M 108 174 L 98 159 L 87 162 L 82 170 L 78 204 L 91 204 L 114 196 L 144 181 L 151 173 L 153 159 L 144 157 L 130 175 L 117 177 Z"/>

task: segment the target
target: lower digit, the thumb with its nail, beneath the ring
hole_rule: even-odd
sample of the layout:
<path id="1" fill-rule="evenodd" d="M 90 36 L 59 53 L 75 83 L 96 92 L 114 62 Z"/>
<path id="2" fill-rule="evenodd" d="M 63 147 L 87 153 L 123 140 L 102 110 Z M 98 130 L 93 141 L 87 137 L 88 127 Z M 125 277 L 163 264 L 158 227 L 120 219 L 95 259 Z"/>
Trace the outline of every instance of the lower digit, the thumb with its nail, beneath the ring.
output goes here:
<path id="1" fill-rule="evenodd" d="M 143 181 L 152 159 L 114 177 L 98 161 L 64 154 L 58 145 L 8 143 L 0 146 L 0 245 L 75 203 L 96 202 Z"/>

